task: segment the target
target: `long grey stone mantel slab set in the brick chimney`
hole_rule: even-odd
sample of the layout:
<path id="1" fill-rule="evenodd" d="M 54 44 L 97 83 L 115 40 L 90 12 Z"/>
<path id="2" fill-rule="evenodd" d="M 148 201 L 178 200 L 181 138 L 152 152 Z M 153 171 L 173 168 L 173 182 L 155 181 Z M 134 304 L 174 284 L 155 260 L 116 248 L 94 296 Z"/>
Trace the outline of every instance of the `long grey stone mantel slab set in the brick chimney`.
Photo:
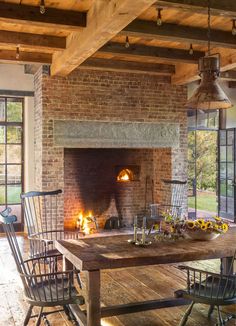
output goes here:
<path id="1" fill-rule="evenodd" d="M 53 129 L 56 147 L 179 147 L 178 123 L 54 120 Z"/>

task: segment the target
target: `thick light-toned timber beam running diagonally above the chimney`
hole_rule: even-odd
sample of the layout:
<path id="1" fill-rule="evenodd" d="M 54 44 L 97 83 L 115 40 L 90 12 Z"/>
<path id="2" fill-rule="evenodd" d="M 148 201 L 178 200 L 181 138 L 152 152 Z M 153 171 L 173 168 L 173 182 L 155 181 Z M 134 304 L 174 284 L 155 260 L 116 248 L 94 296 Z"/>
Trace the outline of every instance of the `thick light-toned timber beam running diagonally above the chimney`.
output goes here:
<path id="1" fill-rule="evenodd" d="M 93 55 L 156 0 L 97 0 L 87 15 L 87 28 L 67 38 L 67 49 L 53 55 L 52 75 L 67 75 Z"/>

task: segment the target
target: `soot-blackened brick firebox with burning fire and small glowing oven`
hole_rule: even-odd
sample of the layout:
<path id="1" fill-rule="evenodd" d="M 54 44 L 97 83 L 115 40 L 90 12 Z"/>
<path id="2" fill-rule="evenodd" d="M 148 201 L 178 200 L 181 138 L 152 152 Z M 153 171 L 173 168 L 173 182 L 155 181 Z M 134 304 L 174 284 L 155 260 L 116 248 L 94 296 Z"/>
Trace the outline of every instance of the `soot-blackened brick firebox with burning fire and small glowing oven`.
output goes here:
<path id="1" fill-rule="evenodd" d="M 64 149 L 65 226 L 76 227 L 81 214 L 96 217 L 99 228 L 131 226 L 134 216 L 155 200 L 158 150 L 163 151 Z"/>

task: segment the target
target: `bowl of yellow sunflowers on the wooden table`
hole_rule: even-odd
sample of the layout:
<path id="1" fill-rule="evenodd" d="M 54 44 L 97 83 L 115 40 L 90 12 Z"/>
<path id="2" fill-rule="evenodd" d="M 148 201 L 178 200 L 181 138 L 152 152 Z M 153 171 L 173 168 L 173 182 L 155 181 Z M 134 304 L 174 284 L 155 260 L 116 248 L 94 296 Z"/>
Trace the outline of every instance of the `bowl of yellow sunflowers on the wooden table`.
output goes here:
<path id="1" fill-rule="evenodd" d="M 187 220 L 185 226 L 187 235 L 195 240 L 213 240 L 229 229 L 229 224 L 218 216 L 214 217 L 214 220 L 203 218 Z"/>

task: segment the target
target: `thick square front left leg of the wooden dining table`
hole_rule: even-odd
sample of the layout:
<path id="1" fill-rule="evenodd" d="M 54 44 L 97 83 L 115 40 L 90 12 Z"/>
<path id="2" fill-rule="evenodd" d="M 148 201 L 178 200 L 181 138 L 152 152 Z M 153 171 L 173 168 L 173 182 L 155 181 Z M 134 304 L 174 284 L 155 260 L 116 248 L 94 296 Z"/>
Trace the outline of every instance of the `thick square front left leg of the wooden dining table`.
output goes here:
<path id="1" fill-rule="evenodd" d="M 101 325 L 100 270 L 87 273 L 87 326 Z"/>

